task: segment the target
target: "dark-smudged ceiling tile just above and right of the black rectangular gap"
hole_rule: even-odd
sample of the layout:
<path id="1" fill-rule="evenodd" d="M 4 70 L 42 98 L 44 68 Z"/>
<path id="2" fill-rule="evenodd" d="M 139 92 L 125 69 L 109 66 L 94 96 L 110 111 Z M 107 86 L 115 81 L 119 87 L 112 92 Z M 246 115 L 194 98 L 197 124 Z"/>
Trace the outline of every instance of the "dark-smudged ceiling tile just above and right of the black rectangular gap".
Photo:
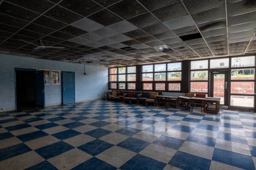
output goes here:
<path id="1" fill-rule="evenodd" d="M 200 31 L 208 31 L 217 28 L 226 27 L 226 19 L 214 20 L 207 23 L 201 23 L 197 25 Z"/>

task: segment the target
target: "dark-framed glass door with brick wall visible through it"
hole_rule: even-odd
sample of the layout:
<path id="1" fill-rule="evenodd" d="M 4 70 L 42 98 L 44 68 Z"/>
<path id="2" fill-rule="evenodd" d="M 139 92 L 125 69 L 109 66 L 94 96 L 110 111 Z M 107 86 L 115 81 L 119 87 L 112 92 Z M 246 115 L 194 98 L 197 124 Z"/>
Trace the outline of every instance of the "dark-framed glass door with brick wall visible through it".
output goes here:
<path id="1" fill-rule="evenodd" d="M 228 106 L 228 73 L 229 71 L 210 72 L 210 96 L 220 97 L 221 105 Z"/>

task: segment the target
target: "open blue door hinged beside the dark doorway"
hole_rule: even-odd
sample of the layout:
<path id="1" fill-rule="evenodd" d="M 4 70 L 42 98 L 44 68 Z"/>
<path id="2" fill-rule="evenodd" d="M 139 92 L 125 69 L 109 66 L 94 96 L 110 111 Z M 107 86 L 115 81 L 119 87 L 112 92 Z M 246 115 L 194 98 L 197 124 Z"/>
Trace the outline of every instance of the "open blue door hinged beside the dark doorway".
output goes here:
<path id="1" fill-rule="evenodd" d="M 45 109 L 44 70 L 35 71 L 35 107 Z"/>

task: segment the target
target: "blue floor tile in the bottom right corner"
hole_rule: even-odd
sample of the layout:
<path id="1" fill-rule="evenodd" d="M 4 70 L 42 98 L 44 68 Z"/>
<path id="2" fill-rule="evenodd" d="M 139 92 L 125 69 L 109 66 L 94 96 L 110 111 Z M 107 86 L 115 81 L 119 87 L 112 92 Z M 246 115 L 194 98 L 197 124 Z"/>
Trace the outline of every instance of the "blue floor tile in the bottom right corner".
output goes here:
<path id="1" fill-rule="evenodd" d="M 245 170 L 255 170 L 251 156 L 231 152 L 228 150 L 214 148 L 212 160 L 222 162 L 224 164 L 229 164 L 234 167 L 239 167 Z"/>

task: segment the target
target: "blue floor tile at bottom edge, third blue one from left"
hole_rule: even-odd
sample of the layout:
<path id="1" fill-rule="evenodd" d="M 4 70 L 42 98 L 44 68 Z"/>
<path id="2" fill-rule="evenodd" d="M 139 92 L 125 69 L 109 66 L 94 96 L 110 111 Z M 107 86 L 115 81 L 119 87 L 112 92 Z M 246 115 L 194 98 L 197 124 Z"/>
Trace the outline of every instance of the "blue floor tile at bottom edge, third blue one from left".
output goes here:
<path id="1" fill-rule="evenodd" d="M 121 170 L 163 170 L 165 163 L 137 154 L 123 164 Z"/>

